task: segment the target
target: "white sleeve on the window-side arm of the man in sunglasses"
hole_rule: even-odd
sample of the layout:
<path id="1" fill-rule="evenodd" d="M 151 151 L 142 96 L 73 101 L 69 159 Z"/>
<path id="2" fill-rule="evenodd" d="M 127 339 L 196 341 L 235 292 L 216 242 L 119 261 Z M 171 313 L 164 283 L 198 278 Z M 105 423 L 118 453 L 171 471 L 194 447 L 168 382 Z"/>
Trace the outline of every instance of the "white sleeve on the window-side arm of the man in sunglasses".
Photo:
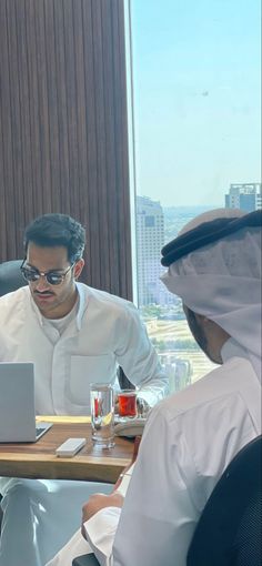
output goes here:
<path id="1" fill-rule="evenodd" d="M 115 356 L 127 377 L 139 387 L 150 407 L 169 393 L 169 380 L 159 362 L 138 309 L 130 304 L 118 326 Z"/>

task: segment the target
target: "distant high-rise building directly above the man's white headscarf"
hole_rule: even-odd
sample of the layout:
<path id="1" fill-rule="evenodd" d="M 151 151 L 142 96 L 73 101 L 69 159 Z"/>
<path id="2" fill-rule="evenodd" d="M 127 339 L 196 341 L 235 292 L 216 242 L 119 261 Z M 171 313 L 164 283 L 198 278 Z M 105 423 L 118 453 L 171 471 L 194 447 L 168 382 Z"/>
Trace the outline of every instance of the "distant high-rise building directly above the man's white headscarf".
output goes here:
<path id="1" fill-rule="evenodd" d="M 241 209 L 245 212 L 262 209 L 261 183 L 233 183 L 225 194 L 226 209 Z"/>

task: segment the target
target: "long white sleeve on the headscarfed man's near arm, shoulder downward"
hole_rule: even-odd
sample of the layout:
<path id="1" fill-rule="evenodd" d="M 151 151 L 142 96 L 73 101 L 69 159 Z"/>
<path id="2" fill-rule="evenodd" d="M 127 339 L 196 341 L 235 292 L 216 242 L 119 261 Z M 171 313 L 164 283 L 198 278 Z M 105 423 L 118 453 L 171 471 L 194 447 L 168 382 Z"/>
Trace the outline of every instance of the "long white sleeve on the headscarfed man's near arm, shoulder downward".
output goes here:
<path id="1" fill-rule="evenodd" d="M 114 566 L 185 566 L 199 509 L 180 425 L 159 407 L 149 417 L 115 534 Z"/>

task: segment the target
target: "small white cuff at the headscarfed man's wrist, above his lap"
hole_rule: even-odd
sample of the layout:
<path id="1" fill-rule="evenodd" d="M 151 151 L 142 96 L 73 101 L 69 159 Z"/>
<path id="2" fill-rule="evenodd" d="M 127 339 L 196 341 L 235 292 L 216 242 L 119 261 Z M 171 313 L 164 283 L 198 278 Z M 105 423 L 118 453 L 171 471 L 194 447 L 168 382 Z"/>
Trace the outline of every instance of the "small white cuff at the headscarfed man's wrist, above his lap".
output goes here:
<path id="1" fill-rule="evenodd" d="M 101 566 L 111 566 L 113 564 L 112 545 L 120 513 L 120 507 L 105 507 L 84 523 L 87 540 Z"/>

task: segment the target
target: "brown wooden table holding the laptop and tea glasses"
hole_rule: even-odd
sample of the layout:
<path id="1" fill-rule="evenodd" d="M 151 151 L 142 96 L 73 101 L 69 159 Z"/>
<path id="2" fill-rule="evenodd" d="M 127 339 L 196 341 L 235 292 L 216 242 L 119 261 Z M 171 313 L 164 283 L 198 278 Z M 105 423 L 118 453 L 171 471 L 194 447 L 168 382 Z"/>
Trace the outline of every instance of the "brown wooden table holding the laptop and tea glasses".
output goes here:
<path id="1" fill-rule="evenodd" d="M 131 462 L 133 441 L 115 436 L 115 446 L 93 446 L 89 417 L 39 417 L 53 426 L 33 444 L 0 444 L 0 476 L 49 479 L 88 479 L 114 483 Z M 85 437 L 85 446 L 72 458 L 56 456 L 69 437 Z"/>

